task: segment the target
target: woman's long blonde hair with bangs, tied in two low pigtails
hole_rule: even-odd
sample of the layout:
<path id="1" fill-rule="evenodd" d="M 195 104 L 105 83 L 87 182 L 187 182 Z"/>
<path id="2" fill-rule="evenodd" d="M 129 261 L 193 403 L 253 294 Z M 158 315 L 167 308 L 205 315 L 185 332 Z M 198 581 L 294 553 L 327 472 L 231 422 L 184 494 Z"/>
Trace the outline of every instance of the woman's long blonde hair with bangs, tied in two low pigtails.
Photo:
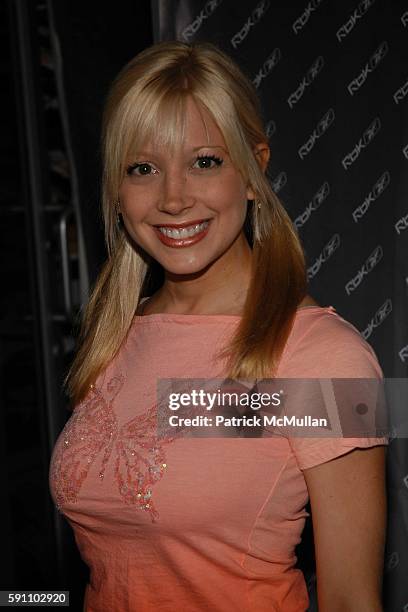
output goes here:
<path id="1" fill-rule="evenodd" d="M 220 354 L 227 358 L 228 377 L 274 375 L 306 293 L 299 239 L 254 155 L 255 145 L 267 142 L 267 136 L 252 84 L 211 43 L 149 47 L 122 69 L 105 105 L 102 198 L 108 259 L 85 309 L 79 350 L 66 379 L 74 402 L 119 351 L 155 264 L 116 222 L 126 162 L 147 140 L 182 142 L 187 96 L 213 117 L 233 164 L 261 204 L 248 207 L 253 276 L 236 333 Z"/>

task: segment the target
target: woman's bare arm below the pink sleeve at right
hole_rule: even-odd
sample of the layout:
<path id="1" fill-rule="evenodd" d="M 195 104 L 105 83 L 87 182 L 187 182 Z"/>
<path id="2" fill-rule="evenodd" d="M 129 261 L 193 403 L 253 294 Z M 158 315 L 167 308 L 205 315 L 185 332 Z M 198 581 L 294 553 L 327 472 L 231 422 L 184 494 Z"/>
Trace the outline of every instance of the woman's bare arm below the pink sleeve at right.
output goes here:
<path id="1" fill-rule="evenodd" d="M 385 447 L 355 449 L 305 469 L 319 612 L 381 612 Z"/>

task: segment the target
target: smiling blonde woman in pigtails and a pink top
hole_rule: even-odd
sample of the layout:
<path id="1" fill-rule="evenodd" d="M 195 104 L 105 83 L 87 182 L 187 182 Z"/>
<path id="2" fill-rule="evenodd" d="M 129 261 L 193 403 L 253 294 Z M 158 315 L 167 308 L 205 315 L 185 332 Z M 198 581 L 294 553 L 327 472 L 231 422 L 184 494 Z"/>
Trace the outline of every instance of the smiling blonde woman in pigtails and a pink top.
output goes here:
<path id="1" fill-rule="evenodd" d="M 382 376 L 306 295 L 251 84 L 210 44 L 155 45 L 117 77 L 103 136 L 109 259 L 50 470 L 91 570 L 84 610 L 306 610 L 309 498 L 319 611 L 381 610 L 386 438 L 156 428 L 161 379 Z"/>

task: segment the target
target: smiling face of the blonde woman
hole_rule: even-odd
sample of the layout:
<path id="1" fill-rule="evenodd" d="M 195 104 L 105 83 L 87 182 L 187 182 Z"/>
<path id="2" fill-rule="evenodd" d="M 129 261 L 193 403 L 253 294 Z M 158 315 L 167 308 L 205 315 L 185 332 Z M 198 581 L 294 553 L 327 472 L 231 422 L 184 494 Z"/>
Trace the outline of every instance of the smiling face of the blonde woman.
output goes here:
<path id="1" fill-rule="evenodd" d="M 119 191 L 133 240 L 167 272 L 183 275 L 239 261 L 237 254 L 249 249 L 243 224 L 254 197 L 208 113 L 192 98 L 186 113 L 181 147 L 146 143 L 128 160 Z"/>

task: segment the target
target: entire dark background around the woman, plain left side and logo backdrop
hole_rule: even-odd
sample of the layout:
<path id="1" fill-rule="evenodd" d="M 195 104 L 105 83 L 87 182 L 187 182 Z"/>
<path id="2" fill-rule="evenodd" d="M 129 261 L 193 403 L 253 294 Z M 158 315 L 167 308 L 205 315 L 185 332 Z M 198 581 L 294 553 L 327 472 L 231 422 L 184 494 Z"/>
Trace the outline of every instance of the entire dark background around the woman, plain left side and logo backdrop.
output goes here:
<path id="1" fill-rule="evenodd" d="M 387 0 L 0 3 L 0 589 L 65 589 L 87 568 L 48 491 L 69 416 L 76 315 L 105 258 L 99 131 L 118 70 L 155 40 L 209 40 L 261 97 L 269 176 L 305 247 L 310 293 L 408 366 L 408 5 Z M 385 610 L 408 610 L 408 451 L 388 453 Z M 315 608 L 311 522 L 298 551 Z M 351 560 L 352 562 L 352 560 Z"/>

